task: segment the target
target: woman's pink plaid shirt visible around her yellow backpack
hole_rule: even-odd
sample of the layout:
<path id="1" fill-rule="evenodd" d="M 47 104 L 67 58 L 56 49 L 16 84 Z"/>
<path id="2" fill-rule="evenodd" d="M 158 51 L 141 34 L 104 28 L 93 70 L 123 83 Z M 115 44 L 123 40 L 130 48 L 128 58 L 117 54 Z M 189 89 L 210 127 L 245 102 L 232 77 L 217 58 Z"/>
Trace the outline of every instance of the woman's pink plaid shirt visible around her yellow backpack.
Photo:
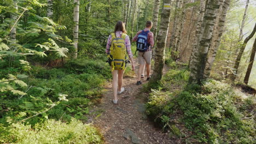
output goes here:
<path id="1" fill-rule="evenodd" d="M 121 32 L 121 31 L 117 31 L 117 32 L 115 32 L 115 35 L 117 35 L 117 37 L 121 37 L 122 33 L 123 32 Z M 108 42 L 107 42 L 107 47 L 106 47 L 107 54 L 110 53 L 111 42 L 112 42 L 112 35 L 110 34 L 108 37 Z M 125 37 L 125 46 L 126 46 L 126 51 L 127 51 L 129 58 L 133 57 L 132 51 L 131 51 L 131 41 L 130 41 L 130 38 L 128 35 L 126 35 L 126 37 Z"/>

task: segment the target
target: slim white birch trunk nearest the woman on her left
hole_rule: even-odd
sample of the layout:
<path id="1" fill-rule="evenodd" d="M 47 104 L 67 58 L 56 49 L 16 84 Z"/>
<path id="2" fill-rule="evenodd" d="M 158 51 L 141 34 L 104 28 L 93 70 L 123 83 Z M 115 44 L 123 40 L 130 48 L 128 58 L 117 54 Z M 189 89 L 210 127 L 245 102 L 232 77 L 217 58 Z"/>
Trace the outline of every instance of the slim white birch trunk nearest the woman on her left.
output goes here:
<path id="1" fill-rule="evenodd" d="M 79 25 L 79 0 L 74 0 L 74 28 L 73 28 L 73 45 L 74 45 L 74 58 L 77 58 L 77 52 L 78 52 L 78 25 Z"/>

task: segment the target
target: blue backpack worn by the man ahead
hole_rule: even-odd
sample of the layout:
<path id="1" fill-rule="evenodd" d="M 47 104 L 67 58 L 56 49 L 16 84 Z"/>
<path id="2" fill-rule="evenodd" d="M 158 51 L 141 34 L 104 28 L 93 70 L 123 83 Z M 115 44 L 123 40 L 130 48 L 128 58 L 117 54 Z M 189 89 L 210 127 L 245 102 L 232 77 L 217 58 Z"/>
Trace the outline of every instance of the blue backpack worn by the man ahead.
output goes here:
<path id="1" fill-rule="evenodd" d="M 144 31 L 142 30 L 141 33 L 139 33 L 137 38 L 137 51 L 139 52 L 146 52 L 148 50 L 149 44 L 148 44 L 148 33 L 150 31 Z M 136 53 L 135 52 L 135 53 Z"/>

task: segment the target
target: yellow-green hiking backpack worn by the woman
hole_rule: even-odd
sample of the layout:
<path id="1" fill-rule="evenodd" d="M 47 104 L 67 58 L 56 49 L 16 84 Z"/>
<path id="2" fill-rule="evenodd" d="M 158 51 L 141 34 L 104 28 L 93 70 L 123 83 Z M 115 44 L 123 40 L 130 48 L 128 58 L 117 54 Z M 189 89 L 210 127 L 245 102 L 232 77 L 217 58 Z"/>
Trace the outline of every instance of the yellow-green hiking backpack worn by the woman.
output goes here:
<path id="1" fill-rule="evenodd" d="M 125 69 L 125 61 L 127 61 L 125 37 L 126 34 L 122 34 L 121 37 L 116 37 L 115 33 L 111 34 L 112 42 L 110 47 L 109 59 L 111 59 L 112 70 Z"/>

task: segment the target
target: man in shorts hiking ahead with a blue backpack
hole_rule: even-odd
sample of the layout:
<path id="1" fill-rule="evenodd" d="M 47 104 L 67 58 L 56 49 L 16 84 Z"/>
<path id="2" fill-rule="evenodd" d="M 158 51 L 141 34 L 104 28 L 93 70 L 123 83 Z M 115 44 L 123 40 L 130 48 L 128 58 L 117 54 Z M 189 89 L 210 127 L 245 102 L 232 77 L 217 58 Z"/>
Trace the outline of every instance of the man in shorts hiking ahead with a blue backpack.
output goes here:
<path id="1" fill-rule="evenodd" d="M 146 22 L 146 28 L 142 31 L 138 31 L 132 41 L 137 42 L 137 50 L 138 51 L 138 78 L 136 85 L 141 85 L 141 74 L 144 73 L 144 67 L 146 64 L 147 67 L 147 81 L 150 79 L 150 67 L 151 67 L 151 57 L 152 57 L 152 48 L 154 46 L 154 34 L 150 32 L 152 28 L 152 21 Z M 136 53 L 136 52 L 135 52 Z"/>

